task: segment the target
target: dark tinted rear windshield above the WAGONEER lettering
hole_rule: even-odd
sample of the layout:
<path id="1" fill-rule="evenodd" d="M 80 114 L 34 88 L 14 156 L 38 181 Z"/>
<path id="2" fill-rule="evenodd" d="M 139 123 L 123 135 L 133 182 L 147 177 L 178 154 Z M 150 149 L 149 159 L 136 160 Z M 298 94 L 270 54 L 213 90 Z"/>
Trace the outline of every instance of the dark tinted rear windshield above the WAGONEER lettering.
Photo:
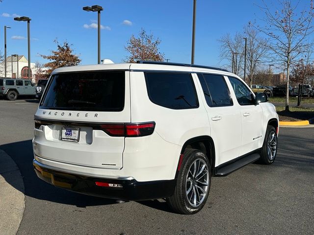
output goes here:
<path id="1" fill-rule="evenodd" d="M 125 71 L 71 72 L 52 75 L 41 108 L 122 111 Z"/>

